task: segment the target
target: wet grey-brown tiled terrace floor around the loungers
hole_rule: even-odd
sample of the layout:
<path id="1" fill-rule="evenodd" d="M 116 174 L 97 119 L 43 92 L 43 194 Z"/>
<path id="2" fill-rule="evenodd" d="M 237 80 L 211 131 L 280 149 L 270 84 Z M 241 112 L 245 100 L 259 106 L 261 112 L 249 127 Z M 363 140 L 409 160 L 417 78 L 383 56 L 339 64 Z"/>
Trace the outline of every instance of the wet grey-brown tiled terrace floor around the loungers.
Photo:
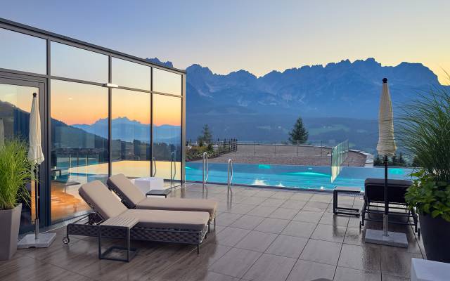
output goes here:
<path id="1" fill-rule="evenodd" d="M 205 194 L 188 185 L 172 196 Z M 226 186 L 208 185 L 207 197 L 219 200 L 219 215 L 200 255 L 191 245 L 136 242 L 130 263 L 100 261 L 96 238 L 65 245 L 58 228 L 49 249 L 0 261 L 0 280 L 409 280 L 411 258 L 423 258 L 411 227 L 391 226 L 407 233 L 408 249 L 364 244 L 359 218 L 334 216 L 330 193 L 233 187 L 227 197 Z M 362 199 L 341 203 L 361 208 Z"/>

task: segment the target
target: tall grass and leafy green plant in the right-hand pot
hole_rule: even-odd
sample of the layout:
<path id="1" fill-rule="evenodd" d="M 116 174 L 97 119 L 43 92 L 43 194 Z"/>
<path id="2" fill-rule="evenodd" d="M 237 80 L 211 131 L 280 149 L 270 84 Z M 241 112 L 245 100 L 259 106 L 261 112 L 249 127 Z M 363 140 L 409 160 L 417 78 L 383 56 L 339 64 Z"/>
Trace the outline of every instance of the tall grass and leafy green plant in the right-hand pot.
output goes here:
<path id="1" fill-rule="evenodd" d="M 420 166 L 405 196 L 409 207 L 450 221 L 449 89 L 432 89 L 404 107 L 398 136 Z"/>

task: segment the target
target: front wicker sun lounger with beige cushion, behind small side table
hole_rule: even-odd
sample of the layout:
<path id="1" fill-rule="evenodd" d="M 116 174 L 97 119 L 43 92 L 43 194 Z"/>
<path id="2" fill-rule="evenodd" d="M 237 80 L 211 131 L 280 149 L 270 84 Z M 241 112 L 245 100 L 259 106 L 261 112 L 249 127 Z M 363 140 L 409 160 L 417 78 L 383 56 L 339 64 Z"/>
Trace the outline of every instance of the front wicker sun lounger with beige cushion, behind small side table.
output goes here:
<path id="1" fill-rule="evenodd" d="M 88 223 L 70 223 L 63 242 L 70 242 L 69 235 L 98 237 L 98 226 L 117 216 L 136 218 L 139 223 L 131 228 L 131 240 L 196 244 L 197 250 L 206 236 L 209 214 L 202 211 L 163 211 L 127 209 L 101 181 L 91 181 L 79 188 L 79 195 L 95 212 Z M 117 233 L 102 237 L 120 237 Z"/>

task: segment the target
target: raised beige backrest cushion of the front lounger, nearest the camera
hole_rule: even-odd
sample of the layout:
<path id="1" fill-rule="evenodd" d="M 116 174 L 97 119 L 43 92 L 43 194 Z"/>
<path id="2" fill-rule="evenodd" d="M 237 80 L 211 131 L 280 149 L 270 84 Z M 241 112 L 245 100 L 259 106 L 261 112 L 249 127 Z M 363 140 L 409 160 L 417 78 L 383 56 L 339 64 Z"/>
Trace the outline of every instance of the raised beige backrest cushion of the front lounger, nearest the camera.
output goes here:
<path id="1" fill-rule="evenodd" d="M 101 181 L 85 183 L 78 193 L 105 220 L 128 210 Z"/>

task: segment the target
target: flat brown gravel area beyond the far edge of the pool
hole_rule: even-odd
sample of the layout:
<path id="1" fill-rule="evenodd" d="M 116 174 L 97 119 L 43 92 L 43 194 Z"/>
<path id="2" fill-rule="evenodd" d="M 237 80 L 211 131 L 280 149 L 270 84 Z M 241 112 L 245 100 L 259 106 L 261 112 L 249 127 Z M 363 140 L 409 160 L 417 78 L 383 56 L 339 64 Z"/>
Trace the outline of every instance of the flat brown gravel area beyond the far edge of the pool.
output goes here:
<path id="1" fill-rule="evenodd" d="M 297 155 L 298 149 L 298 155 Z M 234 163 L 242 164 L 281 164 L 302 166 L 330 166 L 331 157 L 327 156 L 330 148 L 293 145 L 238 145 L 238 151 L 226 153 L 219 157 L 208 159 L 210 163 L 226 163 L 232 159 Z M 195 162 L 202 162 L 196 160 Z M 366 155 L 349 151 L 349 157 L 342 166 L 364 166 Z"/>

